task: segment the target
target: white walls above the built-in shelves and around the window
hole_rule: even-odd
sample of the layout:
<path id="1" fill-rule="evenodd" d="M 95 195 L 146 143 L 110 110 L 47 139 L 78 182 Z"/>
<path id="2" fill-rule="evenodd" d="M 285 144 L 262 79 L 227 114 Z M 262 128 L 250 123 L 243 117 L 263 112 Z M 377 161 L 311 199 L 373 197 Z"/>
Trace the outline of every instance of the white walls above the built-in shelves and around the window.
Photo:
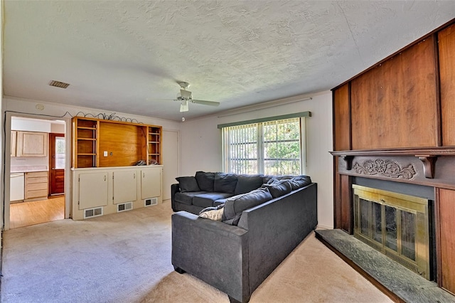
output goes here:
<path id="1" fill-rule="evenodd" d="M 312 97 L 312 99 L 296 101 L 304 97 Z M 331 102 L 331 92 L 323 92 L 318 95 L 277 100 L 267 105 L 269 106 L 267 108 L 258 106 L 254 109 L 249 109 L 247 112 L 245 110 L 230 111 L 223 113 L 223 115 L 187 120 L 183 123 L 155 117 L 141 117 L 121 113 L 117 115 L 119 117 L 137 119 L 139 122 L 146 124 L 162 125 L 164 129 L 180 131 L 181 159 L 176 159 L 181 164 L 180 176 L 193 176 L 198 170 L 223 171 L 221 131 L 217 128 L 218 124 L 310 111 L 312 117 L 306 119 L 308 162 L 306 174 L 311 176 L 314 182 L 318 183 L 319 226 L 333 228 L 333 160 L 331 154 L 328 153 L 333 147 Z M 36 109 L 38 103 L 44 105 L 44 110 Z M 75 115 L 79 111 L 92 115 L 111 113 L 109 110 L 70 107 L 13 97 L 4 97 L 4 110 L 37 115 L 53 115 L 56 117 L 65 115 L 67 111 L 71 115 Z M 68 114 L 66 117 L 69 117 Z M 165 156 L 166 151 L 164 150 L 163 153 Z"/>

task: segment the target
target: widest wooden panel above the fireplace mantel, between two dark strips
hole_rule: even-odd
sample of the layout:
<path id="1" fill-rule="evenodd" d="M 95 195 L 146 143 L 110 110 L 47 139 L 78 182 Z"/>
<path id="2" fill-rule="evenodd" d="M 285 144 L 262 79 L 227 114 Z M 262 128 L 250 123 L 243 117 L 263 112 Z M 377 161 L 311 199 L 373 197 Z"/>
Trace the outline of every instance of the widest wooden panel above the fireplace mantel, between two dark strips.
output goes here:
<path id="1" fill-rule="evenodd" d="M 435 147 L 433 36 L 351 81 L 352 149 Z"/>

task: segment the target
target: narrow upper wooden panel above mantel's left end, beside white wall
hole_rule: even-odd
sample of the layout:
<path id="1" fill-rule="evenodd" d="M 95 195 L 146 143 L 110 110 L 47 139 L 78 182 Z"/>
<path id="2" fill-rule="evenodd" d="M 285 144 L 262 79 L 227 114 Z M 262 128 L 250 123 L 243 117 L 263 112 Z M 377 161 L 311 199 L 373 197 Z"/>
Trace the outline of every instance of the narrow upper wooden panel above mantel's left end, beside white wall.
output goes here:
<path id="1" fill-rule="evenodd" d="M 333 148 L 350 150 L 349 83 L 333 92 Z"/>

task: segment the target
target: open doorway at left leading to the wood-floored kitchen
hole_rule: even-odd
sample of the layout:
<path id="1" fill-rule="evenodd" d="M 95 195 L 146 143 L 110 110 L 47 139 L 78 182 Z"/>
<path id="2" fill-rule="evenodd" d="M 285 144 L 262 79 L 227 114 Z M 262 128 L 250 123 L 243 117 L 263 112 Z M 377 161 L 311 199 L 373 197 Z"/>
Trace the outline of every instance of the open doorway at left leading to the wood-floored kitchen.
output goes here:
<path id="1" fill-rule="evenodd" d="M 28 115 L 27 115 L 28 116 Z M 67 124 L 65 120 L 11 116 L 7 117 L 9 127 L 6 131 L 11 131 L 11 156 L 6 153 L 6 169 L 9 169 L 11 180 L 14 174 L 22 174 L 23 187 L 13 188 L 11 183 L 9 201 L 5 201 L 5 215 L 9 220 L 5 220 L 5 228 L 18 228 L 38 223 L 62 220 L 68 218 L 67 197 L 65 197 L 65 175 L 67 164 L 65 159 L 68 154 L 68 142 L 65 141 Z M 41 134 L 45 137 L 45 155 L 36 156 L 33 144 L 37 141 L 17 142 L 18 134 Z M 14 134 L 16 136 L 14 136 Z M 9 137 L 9 136 L 7 136 Z M 38 138 L 38 136 L 36 136 Z M 7 138 L 9 139 L 9 138 Z M 41 141 L 39 141 L 41 143 Z M 17 144 L 17 145 L 16 145 Z M 26 144 L 26 145 L 24 145 Z M 28 144 L 28 145 L 27 145 Z M 16 145 L 16 146 L 15 146 Z M 18 154 L 17 146 L 26 146 L 29 154 Z M 41 149 L 38 144 L 37 150 Z M 17 184 L 17 182 L 16 182 Z M 44 193 L 43 193 L 43 184 Z M 6 185 L 6 182 L 5 182 Z M 23 198 L 15 196 L 14 191 L 23 193 Z M 17 200 L 14 200 L 17 199 Z M 9 207 L 8 207 L 9 206 Z"/>

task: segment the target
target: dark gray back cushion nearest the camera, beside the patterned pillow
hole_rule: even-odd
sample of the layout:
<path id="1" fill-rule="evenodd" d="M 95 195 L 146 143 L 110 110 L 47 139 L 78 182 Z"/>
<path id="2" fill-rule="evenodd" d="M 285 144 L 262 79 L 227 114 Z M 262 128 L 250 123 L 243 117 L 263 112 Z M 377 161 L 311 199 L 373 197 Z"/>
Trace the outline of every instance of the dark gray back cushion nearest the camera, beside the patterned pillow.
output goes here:
<path id="1" fill-rule="evenodd" d="M 237 225 L 242 216 L 242 211 L 258 206 L 264 202 L 272 200 L 272 195 L 267 188 L 259 188 L 249 193 L 242 193 L 226 199 L 223 219 L 224 223 Z"/>

